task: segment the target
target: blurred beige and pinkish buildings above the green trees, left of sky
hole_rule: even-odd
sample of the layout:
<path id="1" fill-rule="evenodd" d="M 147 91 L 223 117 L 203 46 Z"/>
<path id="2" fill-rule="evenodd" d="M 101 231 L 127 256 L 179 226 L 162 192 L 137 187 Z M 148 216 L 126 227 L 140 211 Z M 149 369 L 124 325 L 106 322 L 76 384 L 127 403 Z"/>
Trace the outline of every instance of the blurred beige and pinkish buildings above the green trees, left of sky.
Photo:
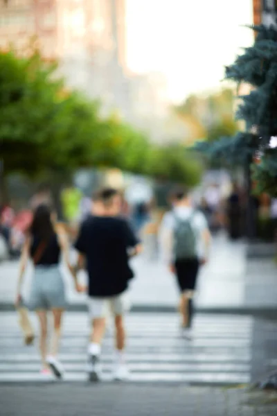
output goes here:
<path id="1" fill-rule="evenodd" d="M 125 0 L 0 0 L 0 48 L 22 53 L 33 37 L 44 58 L 60 62 L 69 87 L 157 139 L 166 81 L 129 72 L 126 36 Z"/>

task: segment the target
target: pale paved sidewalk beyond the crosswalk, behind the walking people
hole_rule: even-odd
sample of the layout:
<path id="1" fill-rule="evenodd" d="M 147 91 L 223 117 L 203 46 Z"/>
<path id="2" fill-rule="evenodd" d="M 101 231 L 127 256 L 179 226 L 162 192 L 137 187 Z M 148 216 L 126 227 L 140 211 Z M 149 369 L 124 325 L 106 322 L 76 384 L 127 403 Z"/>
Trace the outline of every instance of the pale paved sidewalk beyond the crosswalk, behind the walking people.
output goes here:
<path id="1" fill-rule="evenodd" d="M 215 237 L 209 263 L 199 275 L 195 305 L 199 311 L 246 311 L 277 309 L 277 268 L 271 259 L 246 261 L 243 242 L 231 243 L 224 235 Z M 162 261 L 151 260 L 148 250 L 132 261 L 136 278 L 130 291 L 132 305 L 139 309 L 175 309 L 175 279 Z M 64 269 L 64 268 L 63 268 Z M 0 263 L 0 309 L 12 308 L 18 262 Z M 24 293 L 28 293 L 31 267 L 26 272 Z M 75 309 L 84 309 L 86 297 L 75 293 L 64 269 L 68 297 Z M 86 276 L 81 276 L 86 281 Z"/>

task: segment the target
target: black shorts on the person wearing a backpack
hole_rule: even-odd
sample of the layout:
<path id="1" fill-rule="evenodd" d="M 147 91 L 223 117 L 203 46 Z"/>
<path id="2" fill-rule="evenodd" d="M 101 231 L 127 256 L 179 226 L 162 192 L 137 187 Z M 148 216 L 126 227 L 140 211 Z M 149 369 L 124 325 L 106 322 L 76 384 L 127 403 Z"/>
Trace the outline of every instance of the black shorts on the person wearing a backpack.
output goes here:
<path id="1" fill-rule="evenodd" d="M 184 259 L 175 262 L 177 284 L 180 292 L 194 291 L 199 270 L 198 259 Z"/>

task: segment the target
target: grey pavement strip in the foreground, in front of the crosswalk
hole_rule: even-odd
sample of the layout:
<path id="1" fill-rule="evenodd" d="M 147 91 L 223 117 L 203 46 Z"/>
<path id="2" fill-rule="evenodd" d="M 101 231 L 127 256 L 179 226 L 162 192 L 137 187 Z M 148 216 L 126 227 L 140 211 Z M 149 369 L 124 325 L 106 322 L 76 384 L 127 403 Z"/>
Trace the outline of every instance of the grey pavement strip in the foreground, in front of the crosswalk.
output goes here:
<path id="1" fill-rule="evenodd" d="M 277 396 L 185 385 L 0 385 L 5 416 L 276 416 Z"/>

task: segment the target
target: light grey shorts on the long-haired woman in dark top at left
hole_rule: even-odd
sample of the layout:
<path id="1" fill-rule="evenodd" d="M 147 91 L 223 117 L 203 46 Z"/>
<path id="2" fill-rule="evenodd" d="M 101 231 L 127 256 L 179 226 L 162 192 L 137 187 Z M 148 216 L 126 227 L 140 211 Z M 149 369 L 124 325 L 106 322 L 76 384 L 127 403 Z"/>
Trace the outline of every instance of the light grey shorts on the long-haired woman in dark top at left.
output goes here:
<path id="1" fill-rule="evenodd" d="M 31 311 L 66 308 L 64 280 L 58 266 L 36 266 L 30 288 Z"/>

